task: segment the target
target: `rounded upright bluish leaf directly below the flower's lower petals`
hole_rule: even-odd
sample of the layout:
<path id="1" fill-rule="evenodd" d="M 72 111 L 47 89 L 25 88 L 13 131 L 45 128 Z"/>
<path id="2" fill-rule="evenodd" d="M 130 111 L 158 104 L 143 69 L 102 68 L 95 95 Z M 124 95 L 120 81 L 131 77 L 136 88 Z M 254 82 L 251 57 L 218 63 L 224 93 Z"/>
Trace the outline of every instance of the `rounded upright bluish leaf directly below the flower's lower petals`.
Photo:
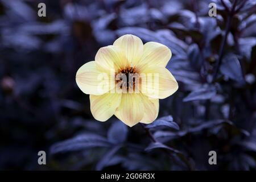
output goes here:
<path id="1" fill-rule="evenodd" d="M 121 121 L 114 122 L 108 131 L 108 140 L 118 144 L 125 142 L 128 134 L 128 129 Z"/>

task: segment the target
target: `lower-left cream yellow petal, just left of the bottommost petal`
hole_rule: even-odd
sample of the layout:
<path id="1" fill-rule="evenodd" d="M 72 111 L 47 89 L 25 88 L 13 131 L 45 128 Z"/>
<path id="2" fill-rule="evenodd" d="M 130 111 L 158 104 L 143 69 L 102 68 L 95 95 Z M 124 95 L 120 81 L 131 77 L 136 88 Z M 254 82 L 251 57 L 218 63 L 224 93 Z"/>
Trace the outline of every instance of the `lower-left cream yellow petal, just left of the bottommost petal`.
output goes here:
<path id="1" fill-rule="evenodd" d="M 90 95 L 90 110 L 98 121 L 106 121 L 115 113 L 122 94 L 106 93 L 102 96 Z"/>

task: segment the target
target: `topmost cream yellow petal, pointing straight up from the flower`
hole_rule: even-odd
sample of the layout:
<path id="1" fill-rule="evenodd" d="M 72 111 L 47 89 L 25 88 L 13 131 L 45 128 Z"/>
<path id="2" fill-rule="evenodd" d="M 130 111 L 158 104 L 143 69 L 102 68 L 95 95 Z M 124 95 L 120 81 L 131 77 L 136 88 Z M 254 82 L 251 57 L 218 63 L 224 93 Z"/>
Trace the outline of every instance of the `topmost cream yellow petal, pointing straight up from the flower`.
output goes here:
<path id="1" fill-rule="evenodd" d="M 137 36 L 123 35 L 113 45 L 122 49 L 131 66 L 136 65 L 142 57 L 143 43 Z"/>

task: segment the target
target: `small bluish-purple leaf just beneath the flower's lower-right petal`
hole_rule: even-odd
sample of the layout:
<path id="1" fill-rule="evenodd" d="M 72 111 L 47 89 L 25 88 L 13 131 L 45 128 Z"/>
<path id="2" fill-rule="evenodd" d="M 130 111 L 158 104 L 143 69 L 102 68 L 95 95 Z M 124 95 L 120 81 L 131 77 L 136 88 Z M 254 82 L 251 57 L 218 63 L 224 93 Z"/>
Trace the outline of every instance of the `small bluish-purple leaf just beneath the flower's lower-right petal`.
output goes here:
<path id="1" fill-rule="evenodd" d="M 180 129 L 179 125 L 177 125 L 177 123 L 175 123 L 173 120 L 174 119 L 172 118 L 172 116 L 168 115 L 166 117 L 156 119 L 156 121 L 148 125 L 145 125 L 145 127 L 147 129 L 152 129 L 154 127 L 164 126 L 164 127 L 171 127 L 172 129 L 175 129 L 175 130 L 179 130 Z"/>

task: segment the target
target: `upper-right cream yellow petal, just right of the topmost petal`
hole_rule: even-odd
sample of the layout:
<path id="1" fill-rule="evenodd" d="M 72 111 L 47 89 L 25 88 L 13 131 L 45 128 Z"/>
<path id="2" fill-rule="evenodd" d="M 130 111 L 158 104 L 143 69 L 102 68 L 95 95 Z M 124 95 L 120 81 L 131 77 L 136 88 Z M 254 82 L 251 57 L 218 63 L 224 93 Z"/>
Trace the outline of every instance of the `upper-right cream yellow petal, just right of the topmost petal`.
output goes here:
<path id="1" fill-rule="evenodd" d="M 143 55 L 138 63 L 138 69 L 149 67 L 166 67 L 171 59 L 172 52 L 163 44 L 157 42 L 148 42 L 144 44 Z"/>

